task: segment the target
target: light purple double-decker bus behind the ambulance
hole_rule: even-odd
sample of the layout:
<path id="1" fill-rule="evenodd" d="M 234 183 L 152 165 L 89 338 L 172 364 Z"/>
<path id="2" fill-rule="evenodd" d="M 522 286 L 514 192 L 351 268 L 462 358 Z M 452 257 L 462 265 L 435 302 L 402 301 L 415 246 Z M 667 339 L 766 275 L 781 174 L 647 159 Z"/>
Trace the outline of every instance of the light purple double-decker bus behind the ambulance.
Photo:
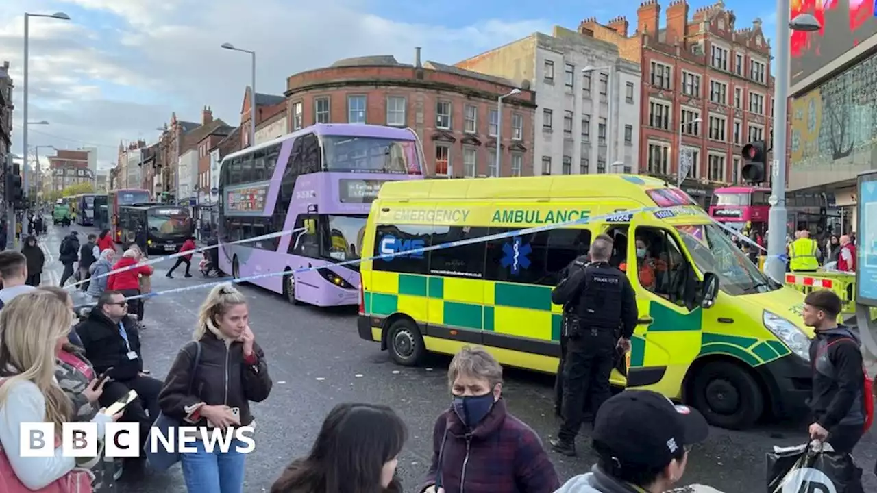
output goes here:
<path id="1" fill-rule="evenodd" d="M 381 183 L 422 179 L 410 129 L 313 125 L 225 156 L 219 176 L 219 267 L 290 303 L 359 303 L 362 235 Z M 270 232 L 272 239 L 228 245 Z M 317 268 L 293 273 L 300 268 Z"/>

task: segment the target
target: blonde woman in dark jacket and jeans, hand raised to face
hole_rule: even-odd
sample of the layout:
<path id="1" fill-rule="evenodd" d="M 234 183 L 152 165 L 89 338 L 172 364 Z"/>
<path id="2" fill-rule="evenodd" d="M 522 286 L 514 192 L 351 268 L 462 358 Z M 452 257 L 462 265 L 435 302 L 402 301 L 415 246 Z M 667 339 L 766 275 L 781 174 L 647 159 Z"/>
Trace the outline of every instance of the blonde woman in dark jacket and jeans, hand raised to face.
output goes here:
<path id="1" fill-rule="evenodd" d="M 194 341 L 182 347 L 159 395 L 161 412 L 190 424 L 225 429 L 253 426 L 250 402 L 271 392 L 265 354 L 249 325 L 246 297 L 231 283 L 210 290 L 201 305 Z M 225 382 L 214 385 L 212 382 Z M 189 493 L 244 490 L 246 455 L 232 440 L 228 452 L 208 449 L 198 439 L 194 454 L 181 454 Z"/>

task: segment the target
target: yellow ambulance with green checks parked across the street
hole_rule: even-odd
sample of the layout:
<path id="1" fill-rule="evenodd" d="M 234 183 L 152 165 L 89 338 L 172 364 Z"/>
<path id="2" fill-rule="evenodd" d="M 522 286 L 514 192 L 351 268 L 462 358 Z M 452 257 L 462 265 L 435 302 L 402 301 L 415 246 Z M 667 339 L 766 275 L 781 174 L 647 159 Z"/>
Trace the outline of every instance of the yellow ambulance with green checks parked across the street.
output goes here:
<path id="1" fill-rule="evenodd" d="M 582 218 L 594 219 L 569 224 Z M 659 391 L 727 428 L 802 410 L 812 337 L 802 294 L 762 274 L 688 195 L 647 176 L 384 183 L 360 250 L 374 257 L 360 267 L 360 337 L 402 365 L 481 345 L 503 365 L 555 373 L 551 290 L 601 233 L 615 240 L 610 263 L 639 310 L 613 383 Z"/>

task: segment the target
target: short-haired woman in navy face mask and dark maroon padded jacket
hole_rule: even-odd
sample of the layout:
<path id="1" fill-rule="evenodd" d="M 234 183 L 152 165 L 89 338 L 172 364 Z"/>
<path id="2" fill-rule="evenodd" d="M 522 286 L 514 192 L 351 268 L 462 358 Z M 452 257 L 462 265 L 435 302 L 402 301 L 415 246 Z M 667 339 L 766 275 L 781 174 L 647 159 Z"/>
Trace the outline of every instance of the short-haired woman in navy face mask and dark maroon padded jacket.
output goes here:
<path id="1" fill-rule="evenodd" d="M 463 347 L 451 361 L 447 380 L 453 404 L 432 430 L 432 465 L 419 491 L 460 493 L 475 485 L 492 493 L 558 489 L 542 441 L 506 411 L 503 367 L 493 356 L 481 347 Z"/>

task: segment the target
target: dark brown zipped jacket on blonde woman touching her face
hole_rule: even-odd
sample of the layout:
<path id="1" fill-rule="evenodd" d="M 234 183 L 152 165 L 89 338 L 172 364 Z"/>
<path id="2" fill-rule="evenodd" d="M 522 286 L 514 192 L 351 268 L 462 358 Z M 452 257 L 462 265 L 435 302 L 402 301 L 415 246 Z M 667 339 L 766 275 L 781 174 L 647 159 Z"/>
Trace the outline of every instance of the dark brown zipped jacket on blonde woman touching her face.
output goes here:
<path id="1" fill-rule="evenodd" d="M 227 339 L 210 322 L 201 339 L 201 358 L 189 391 L 189 375 L 196 358 L 196 344 L 187 344 L 176 355 L 159 394 L 161 411 L 170 418 L 189 423 L 206 422 L 198 412 L 202 405 L 227 405 L 239 409 L 240 425 L 252 425 L 250 402 L 259 403 L 271 393 L 265 353 L 253 343 L 250 361 L 244 358 L 244 345 Z M 210 425 L 209 423 L 207 425 Z"/>

